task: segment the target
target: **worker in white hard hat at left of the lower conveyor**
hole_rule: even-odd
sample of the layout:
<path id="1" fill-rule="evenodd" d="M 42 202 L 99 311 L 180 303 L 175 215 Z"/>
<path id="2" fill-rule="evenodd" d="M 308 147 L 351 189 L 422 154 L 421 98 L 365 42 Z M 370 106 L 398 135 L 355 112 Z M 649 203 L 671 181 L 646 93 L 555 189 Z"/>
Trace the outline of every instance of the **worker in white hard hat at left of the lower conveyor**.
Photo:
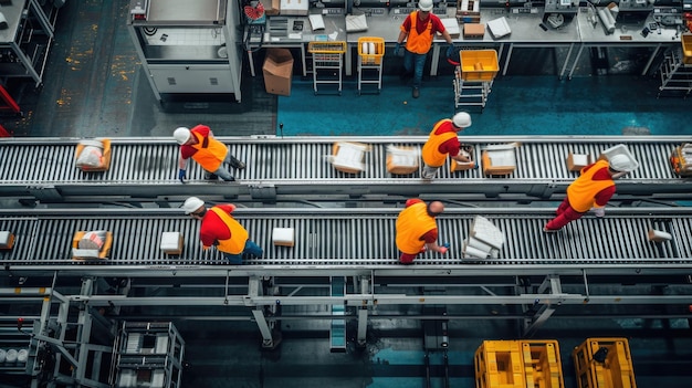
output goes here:
<path id="1" fill-rule="evenodd" d="M 242 255 L 251 254 L 261 258 L 262 249 L 248 239 L 248 231 L 231 213 L 235 210 L 232 203 L 217 205 L 207 209 L 205 201 L 190 197 L 182 203 L 182 210 L 192 218 L 202 220 L 199 228 L 199 238 L 205 250 L 214 245 L 223 252 L 223 256 L 231 264 L 242 264 Z"/>

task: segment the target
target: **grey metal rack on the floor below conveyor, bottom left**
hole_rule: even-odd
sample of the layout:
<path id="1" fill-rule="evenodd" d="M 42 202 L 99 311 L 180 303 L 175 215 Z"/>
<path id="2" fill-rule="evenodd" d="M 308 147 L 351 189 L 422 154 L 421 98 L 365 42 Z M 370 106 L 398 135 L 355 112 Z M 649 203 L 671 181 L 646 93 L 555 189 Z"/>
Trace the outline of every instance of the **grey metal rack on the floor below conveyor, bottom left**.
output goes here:
<path id="1" fill-rule="evenodd" d="M 180 387 L 185 342 L 172 323 L 124 322 L 115 349 L 117 387 Z"/>

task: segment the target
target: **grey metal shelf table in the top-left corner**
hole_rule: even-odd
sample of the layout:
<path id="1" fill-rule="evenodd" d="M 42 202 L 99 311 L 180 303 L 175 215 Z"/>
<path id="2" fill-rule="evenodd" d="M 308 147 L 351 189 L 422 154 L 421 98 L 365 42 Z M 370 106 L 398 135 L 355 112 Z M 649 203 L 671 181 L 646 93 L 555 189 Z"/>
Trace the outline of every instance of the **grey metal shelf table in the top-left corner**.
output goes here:
<path id="1" fill-rule="evenodd" d="M 39 87 L 54 39 L 57 8 L 52 2 L 14 0 L 3 6 L 8 29 L 0 30 L 0 76 L 29 77 Z"/>

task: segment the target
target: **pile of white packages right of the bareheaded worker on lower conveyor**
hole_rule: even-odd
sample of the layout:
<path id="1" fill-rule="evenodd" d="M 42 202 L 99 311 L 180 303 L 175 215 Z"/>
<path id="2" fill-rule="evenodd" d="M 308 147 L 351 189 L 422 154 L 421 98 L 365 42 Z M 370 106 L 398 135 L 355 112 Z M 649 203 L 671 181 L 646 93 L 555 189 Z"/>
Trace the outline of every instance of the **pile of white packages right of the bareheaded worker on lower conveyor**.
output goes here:
<path id="1" fill-rule="evenodd" d="M 463 241 L 464 259 L 497 259 L 504 245 L 504 233 L 489 219 L 476 216 L 473 219 L 469 237 Z"/>

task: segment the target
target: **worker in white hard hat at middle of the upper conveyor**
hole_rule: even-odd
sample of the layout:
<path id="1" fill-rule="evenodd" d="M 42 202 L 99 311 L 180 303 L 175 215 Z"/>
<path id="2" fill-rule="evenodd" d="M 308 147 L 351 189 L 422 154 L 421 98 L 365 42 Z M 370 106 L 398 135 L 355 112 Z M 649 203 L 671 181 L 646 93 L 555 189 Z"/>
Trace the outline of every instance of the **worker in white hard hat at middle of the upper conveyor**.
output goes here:
<path id="1" fill-rule="evenodd" d="M 471 116 L 465 112 L 455 114 L 451 119 L 439 120 L 432 130 L 428 141 L 423 145 L 423 179 L 432 179 L 438 169 L 444 165 L 447 156 L 461 162 L 471 161 L 471 155 L 461 150 L 461 144 L 457 133 L 471 126 Z"/>

